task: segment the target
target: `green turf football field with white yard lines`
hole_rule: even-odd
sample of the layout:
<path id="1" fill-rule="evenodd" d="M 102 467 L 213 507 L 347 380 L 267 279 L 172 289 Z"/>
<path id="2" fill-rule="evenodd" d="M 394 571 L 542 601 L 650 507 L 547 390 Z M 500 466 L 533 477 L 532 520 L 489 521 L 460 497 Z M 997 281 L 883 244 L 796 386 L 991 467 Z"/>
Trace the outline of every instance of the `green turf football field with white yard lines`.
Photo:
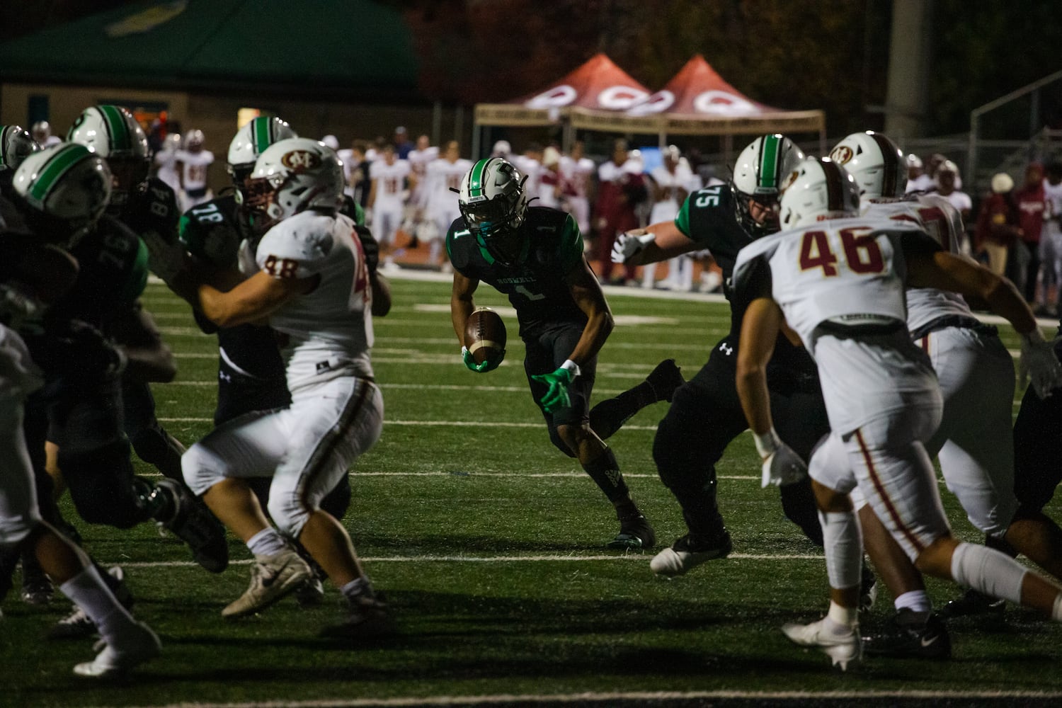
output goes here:
<path id="1" fill-rule="evenodd" d="M 1062 629 L 1018 608 L 1004 622 L 954 623 L 947 662 L 871 659 L 841 675 L 823 654 L 790 644 L 784 622 L 825 611 L 825 567 L 783 516 L 777 490 L 759 487 L 747 434 L 718 468 L 730 558 L 666 581 L 650 572 L 650 553 L 604 551 L 617 530 L 612 510 L 549 444 L 503 298 L 485 287 L 477 298 L 501 310 L 510 345 L 498 370 L 476 375 L 461 364 L 448 283 L 395 279 L 393 293 L 374 351 L 387 421 L 352 470 L 344 523 L 400 636 L 359 647 L 318 639 L 340 611 L 331 587 L 318 608 L 289 599 L 224 621 L 221 608 L 249 579 L 241 543 L 230 542 L 229 570 L 210 575 L 153 526 L 80 523 L 93 555 L 125 569 L 135 611 L 164 654 L 119 685 L 79 679 L 71 667 L 91 657 L 91 642 L 40 639 L 66 602 L 34 608 L 13 593 L 0 623 L 0 706 L 1062 703 Z M 162 286 L 149 286 L 144 301 L 179 364 L 174 383 L 155 387 L 158 415 L 190 444 L 210 428 L 216 343 Z M 691 376 L 729 325 L 720 303 L 622 293 L 611 305 L 617 326 L 595 402 L 667 357 Z M 1017 348 L 1009 329 L 1006 341 Z M 610 441 L 662 545 L 684 533 L 651 456 L 665 411 L 647 409 Z M 976 539 L 944 498 L 956 532 Z M 1062 504 L 1048 513 L 1062 517 Z M 930 581 L 930 593 L 942 604 L 957 591 Z M 864 628 L 889 615 L 883 591 Z"/>

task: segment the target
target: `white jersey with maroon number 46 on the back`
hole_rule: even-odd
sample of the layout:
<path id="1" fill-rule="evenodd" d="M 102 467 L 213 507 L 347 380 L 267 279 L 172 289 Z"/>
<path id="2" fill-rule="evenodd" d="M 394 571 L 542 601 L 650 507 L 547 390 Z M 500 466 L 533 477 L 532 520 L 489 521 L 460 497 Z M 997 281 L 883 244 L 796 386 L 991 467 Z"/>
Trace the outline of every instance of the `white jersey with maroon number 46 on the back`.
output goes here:
<path id="1" fill-rule="evenodd" d="M 836 219 L 782 231 L 746 246 L 735 289 L 770 297 L 813 353 L 816 328 L 907 318 L 904 248 L 936 251 L 917 224 L 889 219 Z"/>

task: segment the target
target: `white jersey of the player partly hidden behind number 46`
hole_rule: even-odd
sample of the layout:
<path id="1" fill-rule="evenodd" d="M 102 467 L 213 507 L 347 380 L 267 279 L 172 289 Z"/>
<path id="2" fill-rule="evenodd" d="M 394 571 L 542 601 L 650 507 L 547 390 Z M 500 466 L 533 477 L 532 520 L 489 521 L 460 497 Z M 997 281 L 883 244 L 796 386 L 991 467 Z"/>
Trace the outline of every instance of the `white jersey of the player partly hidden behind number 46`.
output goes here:
<path id="1" fill-rule="evenodd" d="M 941 248 L 960 255 L 962 217 L 952 203 L 938 194 L 920 194 L 900 200 L 871 200 L 862 204 L 863 213 L 918 224 Z M 907 328 L 912 332 L 933 320 L 947 315 L 973 317 L 962 295 L 936 288 L 911 288 L 907 291 Z"/>

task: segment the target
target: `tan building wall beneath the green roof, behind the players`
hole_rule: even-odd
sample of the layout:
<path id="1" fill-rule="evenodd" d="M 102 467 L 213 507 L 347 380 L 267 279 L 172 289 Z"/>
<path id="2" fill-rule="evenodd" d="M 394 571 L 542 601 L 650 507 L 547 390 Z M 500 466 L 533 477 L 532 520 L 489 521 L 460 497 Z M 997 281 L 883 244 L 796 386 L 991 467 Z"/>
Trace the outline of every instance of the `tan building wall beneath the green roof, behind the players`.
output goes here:
<path id="1" fill-rule="evenodd" d="M 57 85 L 3 84 L 0 86 L 0 124 L 16 123 L 29 127 L 31 96 L 46 96 L 49 103 L 48 121 L 55 135 L 64 136 L 78 115 L 87 106 L 114 102 L 129 107 L 164 104 L 171 121 L 181 125 L 182 132 L 191 128 L 203 131 L 206 149 L 211 151 L 216 165 L 209 173 L 209 185 L 215 190 L 228 184 L 225 156 L 228 143 L 237 131 L 240 108 L 258 108 L 279 116 L 291 123 L 304 137 L 322 138 L 335 135 L 341 148 L 349 146 L 355 139 L 372 141 L 382 136 L 391 139 L 394 128 L 402 125 L 410 139 L 427 134 L 433 144 L 457 138 L 462 142 L 462 154 L 469 155 L 472 140 L 472 111 L 446 108 L 440 111 L 439 125 L 430 105 L 370 105 L 333 103 L 326 101 L 260 100 L 253 92 L 225 97 L 188 93 L 184 91 L 151 91 L 106 86 L 71 87 Z M 460 135 L 457 135 L 457 134 Z"/>

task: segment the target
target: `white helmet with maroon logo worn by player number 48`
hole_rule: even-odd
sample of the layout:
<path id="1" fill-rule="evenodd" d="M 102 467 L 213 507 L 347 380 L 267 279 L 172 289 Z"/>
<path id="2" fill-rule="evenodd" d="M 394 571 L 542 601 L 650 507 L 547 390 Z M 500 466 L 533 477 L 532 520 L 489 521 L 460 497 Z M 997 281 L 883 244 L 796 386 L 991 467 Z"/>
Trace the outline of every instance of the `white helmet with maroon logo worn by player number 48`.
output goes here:
<path id="1" fill-rule="evenodd" d="M 343 163 L 323 142 L 279 140 L 255 160 L 244 200 L 260 234 L 299 211 L 339 209 L 343 204 Z"/>

